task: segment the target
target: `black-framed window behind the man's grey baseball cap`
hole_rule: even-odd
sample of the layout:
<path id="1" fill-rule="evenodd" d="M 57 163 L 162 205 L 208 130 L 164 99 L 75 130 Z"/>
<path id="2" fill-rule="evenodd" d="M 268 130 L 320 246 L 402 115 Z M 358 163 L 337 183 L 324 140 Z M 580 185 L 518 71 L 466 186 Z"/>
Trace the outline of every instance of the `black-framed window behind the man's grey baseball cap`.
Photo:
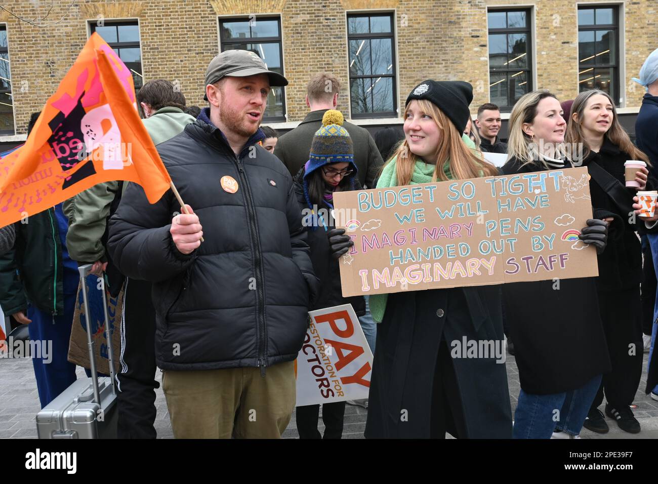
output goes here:
<path id="1" fill-rule="evenodd" d="M 269 70 L 284 75 L 280 17 L 220 18 L 219 32 L 222 52 L 231 49 L 251 51 L 265 61 Z M 270 90 L 263 121 L 286 121 L 284 89 L 274 87 Z"/>

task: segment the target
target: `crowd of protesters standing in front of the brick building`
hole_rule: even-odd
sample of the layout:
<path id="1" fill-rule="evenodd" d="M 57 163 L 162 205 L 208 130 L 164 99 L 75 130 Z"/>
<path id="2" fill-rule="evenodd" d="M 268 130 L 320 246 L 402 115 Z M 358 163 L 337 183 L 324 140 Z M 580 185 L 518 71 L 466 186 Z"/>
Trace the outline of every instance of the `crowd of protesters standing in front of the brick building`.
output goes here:
<path id="1" fill-rule="evenodd" d="M 157 368 L 174 437 L 281 437 L 307 313 L 342 304 L 374 354 L 369 398 L 322 405 L 324 435 L 320 406 L 297 407 L 301 439 L 340 439 L 346 404 L 368 409 L 369 438 L 574 439 L 583 426 L 607 432 L 605 416 L 640 432 L 631 404 L 658 327 L 658 215 L 639 217 L 636 191 L 658 188 L 658 49 L 636 81 L 647 90 L 636 144 L 600 90 L 569 103 L 549 90 L 523 95 L 502 142 L 499 108 L 486 103 L 471 119 L 463 81 L 420 82 L 403 128 L 374 137 L 343 119 L 327 72 L 311 76 L 296 128 L 261 126 L 270 89 L 288 80 L 249 51 L 211 61 L 203 109 L 166 80 L 147 82 L 143 123 L 186 207 L 172 192 L 151 204 L 138 184 L 107 182 L 0 229 L 0 306 L 33 340 L 53 341 L 52 362 L 33 357 L 42 408 L 76 379 L 66 355 L 77 267 L 89 263 L 113 296 L 124 293 L 121 438 L 155 438 Z M 498 169 L 483 153 L 507 161 Z M 626 160 L 647 167 L 637 188 L 625 184 Z M 336 192 L 580 166 L 593 215 L 579 238 L 595 248 L 598 277 L 557 290 L 537 281 L 342 296 L 338 261 L 353 242 L 321 215 Z M 507 339 L 519 367 L 514 414 L 505 364 L 452 358 L 462 338 Z M 645 389 L 655 400 L 657 365 L 650 358 Z"/>

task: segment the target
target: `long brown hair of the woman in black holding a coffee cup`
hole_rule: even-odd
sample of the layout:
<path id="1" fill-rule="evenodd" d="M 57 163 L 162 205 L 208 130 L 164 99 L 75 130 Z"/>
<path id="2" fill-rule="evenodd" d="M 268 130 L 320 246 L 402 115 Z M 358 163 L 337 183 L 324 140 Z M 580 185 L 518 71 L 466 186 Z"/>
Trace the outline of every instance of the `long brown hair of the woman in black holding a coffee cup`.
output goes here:
<path id="1" fill-rule="evenodd" d="M 633 142 L 630 140 L 628 133 L 622 128 L 619 120 L 617 119 L 617 108 L 615 107 L 615 102 L 610 97 L 609 94 L 605 91 L 598 89 L 590 89 L 588 91 L 583 91 L 576 96 L 574 103 L 571 105 L 571 118 L 569 124 L 567 124 L 567 134 L 565 136 L 565 141 L 567 143 L 582 143 L 583 144 L 583 157 L 584 159 L 590 155 L 590 147 L 585 140 L 585 137 L 582 133 L 582 118 L 585 108 L 587 107 L 587 101 L 595 94 L 602 94 L 607 97 L 608 101 L 613 107 L 613 122 L 610 124 L 610 129 L 605 132 L 604 137 L 610 140 L 612 144 L 617 146 L 621 151 L 628 154 L 632 159 L 640 159 L 650 165 L 649 157 L 645 155 L 643 151 L 636 148 Z M 574 121 L 573 116 L 578 116 L 578 121 Z"/>

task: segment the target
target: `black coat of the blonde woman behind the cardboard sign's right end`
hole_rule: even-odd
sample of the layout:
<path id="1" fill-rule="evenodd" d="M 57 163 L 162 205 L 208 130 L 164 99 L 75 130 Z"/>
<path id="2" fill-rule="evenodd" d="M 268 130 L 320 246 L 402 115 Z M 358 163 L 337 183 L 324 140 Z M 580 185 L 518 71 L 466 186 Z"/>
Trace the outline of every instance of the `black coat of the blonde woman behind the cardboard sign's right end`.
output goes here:
<path id="1" fill-rule="evenodd" d="M 503 166 L 503 174 L 544 171 L 538 165 L 521 165 L 513 158 Z M 530 394 L 579 389 L 611 370 L 596 278 L 560 279 L 559 289 L 554 284 L 503 284 L 505 321 L 514 342 L 520 385 Z"/>

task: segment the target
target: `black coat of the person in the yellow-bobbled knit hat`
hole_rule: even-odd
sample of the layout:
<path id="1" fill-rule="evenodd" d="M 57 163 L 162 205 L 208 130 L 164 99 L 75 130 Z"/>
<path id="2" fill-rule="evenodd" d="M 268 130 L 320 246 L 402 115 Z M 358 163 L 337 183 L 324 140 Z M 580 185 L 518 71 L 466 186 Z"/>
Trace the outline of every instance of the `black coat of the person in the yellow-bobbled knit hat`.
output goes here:
<path id="1" fill-rule="evenodd" d="M 311 220 L 309 215 L 310 209 L 308 203 L 304 198 L 303 188 L 304 169 L 299 171 L 295 176 L 295 194 L 297 201 L 302 208 L 303 219 Z M 361 185 L 358 180 L 355 190 L 360 190 Z M 307 244 L 311 248 L 311 262 L 313 262 L 313 272 L 315 277 L 318 278 L 317 294 L 311 308 L 309 310 L 333 308 L 334 306 L 342 306 L 343 304 L 351 304 L 357 316 L 363 316 L 366 313 L 366 302 L 363 296 L 353 296 L 351 298 L 343 298 L 342 286 L 340 284 L 340 268 L 339 261 L 332 257 L 331 248 L 329 246 L 329 239 L 327 238 L 327 231 L 335 229 L 334 224 L 331 223 L 332 219 L 323 217 L 327 224 L 326 230 L 320 227 L 306 227 L 307 230 Z"/>

